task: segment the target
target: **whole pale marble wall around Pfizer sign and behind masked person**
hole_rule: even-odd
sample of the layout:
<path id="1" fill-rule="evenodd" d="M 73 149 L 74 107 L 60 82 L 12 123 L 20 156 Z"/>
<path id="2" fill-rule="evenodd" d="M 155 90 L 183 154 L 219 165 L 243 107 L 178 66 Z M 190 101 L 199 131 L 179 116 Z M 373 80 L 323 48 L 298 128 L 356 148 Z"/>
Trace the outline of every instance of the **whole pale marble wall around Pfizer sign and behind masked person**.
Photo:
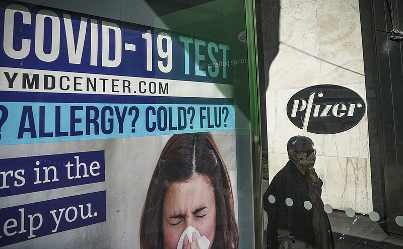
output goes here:
<path id="1" fill-rule="evenodd" d="M 303 3 L 302 3 L 303 2 Z M 331 135 L 304 132 L 287 117 L 298 91 L 320 84 L 347 87 L 365 101 L 358 0 L 282 0 L 280 47 L 266 91 L 269 180 L 286 161 L 287 141 L 312 138 L 315 169 L 324 182 L 322 199 L 334 209 L 372 211 L 367 115 L 352 129 Z"/>

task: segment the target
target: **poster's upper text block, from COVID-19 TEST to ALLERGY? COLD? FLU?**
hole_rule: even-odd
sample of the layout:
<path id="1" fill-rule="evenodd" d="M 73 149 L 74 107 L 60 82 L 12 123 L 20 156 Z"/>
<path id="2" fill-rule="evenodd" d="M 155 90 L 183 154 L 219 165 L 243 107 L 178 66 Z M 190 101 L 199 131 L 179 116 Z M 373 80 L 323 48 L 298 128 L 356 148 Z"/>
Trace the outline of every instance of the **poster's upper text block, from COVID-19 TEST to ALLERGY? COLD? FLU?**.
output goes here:
<path id="1" fill-rule="evenodd" d="M 235 129 L 229 45 L 40 6 L 0 7 L 1 144 Z"/>

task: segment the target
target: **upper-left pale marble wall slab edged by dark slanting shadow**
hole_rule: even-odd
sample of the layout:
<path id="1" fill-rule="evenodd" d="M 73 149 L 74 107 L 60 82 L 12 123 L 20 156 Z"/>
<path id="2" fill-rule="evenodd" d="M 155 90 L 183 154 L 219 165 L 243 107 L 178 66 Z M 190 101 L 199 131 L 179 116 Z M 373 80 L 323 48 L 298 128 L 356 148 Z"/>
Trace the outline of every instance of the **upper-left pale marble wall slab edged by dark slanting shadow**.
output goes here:
<path id="1" fill-rule="evenodd" d="M 281 9 L 280 46 L 270 66 L 268 90 L 320 84 L 315 2 Z"/>

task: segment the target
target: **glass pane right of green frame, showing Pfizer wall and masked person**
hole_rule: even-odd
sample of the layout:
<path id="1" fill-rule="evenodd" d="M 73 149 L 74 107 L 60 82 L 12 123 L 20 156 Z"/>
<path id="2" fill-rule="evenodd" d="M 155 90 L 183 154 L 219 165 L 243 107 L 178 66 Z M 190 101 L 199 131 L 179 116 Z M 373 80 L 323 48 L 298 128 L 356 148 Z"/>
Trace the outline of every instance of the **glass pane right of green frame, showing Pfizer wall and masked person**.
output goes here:
<path id="1" fill-rule="evenodd" d="M 265 244 L 403 248 L 401 1 L 256 3 Z"/>

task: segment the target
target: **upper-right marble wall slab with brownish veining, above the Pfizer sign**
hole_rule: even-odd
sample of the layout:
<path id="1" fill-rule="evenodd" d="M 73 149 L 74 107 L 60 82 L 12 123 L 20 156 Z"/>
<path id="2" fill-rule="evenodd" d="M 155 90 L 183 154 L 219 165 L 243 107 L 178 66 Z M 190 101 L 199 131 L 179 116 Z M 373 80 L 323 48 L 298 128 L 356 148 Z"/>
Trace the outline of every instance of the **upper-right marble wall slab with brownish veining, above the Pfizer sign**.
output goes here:
<path id="1" fill-rule="evenodd" d="M 316 0 L 324 84 L 364 83 L 357 0 Z"/>

